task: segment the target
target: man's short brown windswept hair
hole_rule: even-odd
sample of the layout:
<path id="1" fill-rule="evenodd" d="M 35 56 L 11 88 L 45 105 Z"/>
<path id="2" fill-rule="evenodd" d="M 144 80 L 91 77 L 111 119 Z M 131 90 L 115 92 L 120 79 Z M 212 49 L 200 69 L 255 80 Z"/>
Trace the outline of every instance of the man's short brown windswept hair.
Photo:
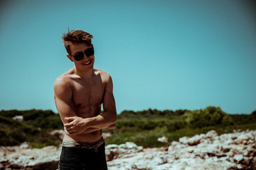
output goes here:
<path id="1" fill-rule="evenodd" d="M 67 53 L 71 54 L 70 44 L 85 43 L 91 46 L 93 36 L 83 30 L 71 30 L 68 33 L 64 33 L 61 38 Z"/>

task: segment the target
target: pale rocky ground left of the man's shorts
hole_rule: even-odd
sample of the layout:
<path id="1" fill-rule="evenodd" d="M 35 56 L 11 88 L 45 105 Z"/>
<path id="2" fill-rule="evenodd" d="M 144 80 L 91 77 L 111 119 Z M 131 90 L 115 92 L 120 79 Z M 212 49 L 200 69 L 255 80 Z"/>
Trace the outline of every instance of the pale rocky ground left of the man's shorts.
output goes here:
<path id="1" fill-rule="evenodd" d="M 61 149 L 47 146 L 31 148 L 26 143 L 20 146 L 0 147 L 0 170 L 56 170 Z"/>

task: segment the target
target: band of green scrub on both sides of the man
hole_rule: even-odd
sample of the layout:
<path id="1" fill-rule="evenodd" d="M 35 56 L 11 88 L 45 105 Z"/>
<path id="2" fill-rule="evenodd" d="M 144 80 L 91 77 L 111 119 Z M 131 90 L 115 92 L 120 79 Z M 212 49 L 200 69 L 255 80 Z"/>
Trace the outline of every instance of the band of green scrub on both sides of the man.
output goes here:
<path id="1" fill-rule="evenodd" d="M 22 116 L 23 120 L 16 120 Z M 61 144 L 61 139 L 50 135 L 54 129 L 63 129 L 58 114 L 50 110 L 9 110 L 0 111 L 0 146 L 18 145 L 29 142 L 34 147 Z M 169 141 L 182 136 L 193 136 L 215 129 L 219 134 L 232 132 L 234 129 L 256 129 L 256 110 L 251 114 L 229 115 L 220 107 L 207 107 L 200 110 L 144 110 L 122 111 L 118 115 L 114 130 L 103 129 L 112 133 L 106 144 L 135 142 L 145 147 L 164 146 L 157 142 L 158 137 L 166 136 Z"/>

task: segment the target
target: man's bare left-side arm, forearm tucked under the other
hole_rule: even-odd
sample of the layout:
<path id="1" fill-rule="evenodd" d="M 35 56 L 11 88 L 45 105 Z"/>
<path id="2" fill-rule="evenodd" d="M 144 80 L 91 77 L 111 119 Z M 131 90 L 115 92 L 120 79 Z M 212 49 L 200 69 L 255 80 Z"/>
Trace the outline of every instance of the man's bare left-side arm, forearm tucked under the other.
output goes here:
<path id="1" fill-rule="evenodd" d="M 74 103 L 72 102 L 72 93 L 73 89 L 68 80 L 63 78 L 56 79 L 54 83 L 54 101 L 63 124 L 69 123 L 69 120 L 65 119 L 66 117 L 77 116 Z M 72 131 L 72 127 L 66 127 L 65 129 L 68 133 L 72 133 L 70 135 L 86 134 L 99 130 L 97 128 L 86 129 L 86 126 L 83 124 L 76 124 L 76 126 L 78 126 L 76 133 Z"/>

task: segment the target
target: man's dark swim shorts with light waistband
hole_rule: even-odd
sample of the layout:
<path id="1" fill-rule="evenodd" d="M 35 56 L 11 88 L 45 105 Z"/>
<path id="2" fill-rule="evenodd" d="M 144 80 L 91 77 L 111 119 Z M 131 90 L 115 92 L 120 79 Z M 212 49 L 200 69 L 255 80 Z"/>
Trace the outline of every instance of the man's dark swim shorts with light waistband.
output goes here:
<path id="1" fill-rule="evenodd" d="M 103 138 L 93 144 L 63 140 L 59 170 L 108 170 Z"/>

